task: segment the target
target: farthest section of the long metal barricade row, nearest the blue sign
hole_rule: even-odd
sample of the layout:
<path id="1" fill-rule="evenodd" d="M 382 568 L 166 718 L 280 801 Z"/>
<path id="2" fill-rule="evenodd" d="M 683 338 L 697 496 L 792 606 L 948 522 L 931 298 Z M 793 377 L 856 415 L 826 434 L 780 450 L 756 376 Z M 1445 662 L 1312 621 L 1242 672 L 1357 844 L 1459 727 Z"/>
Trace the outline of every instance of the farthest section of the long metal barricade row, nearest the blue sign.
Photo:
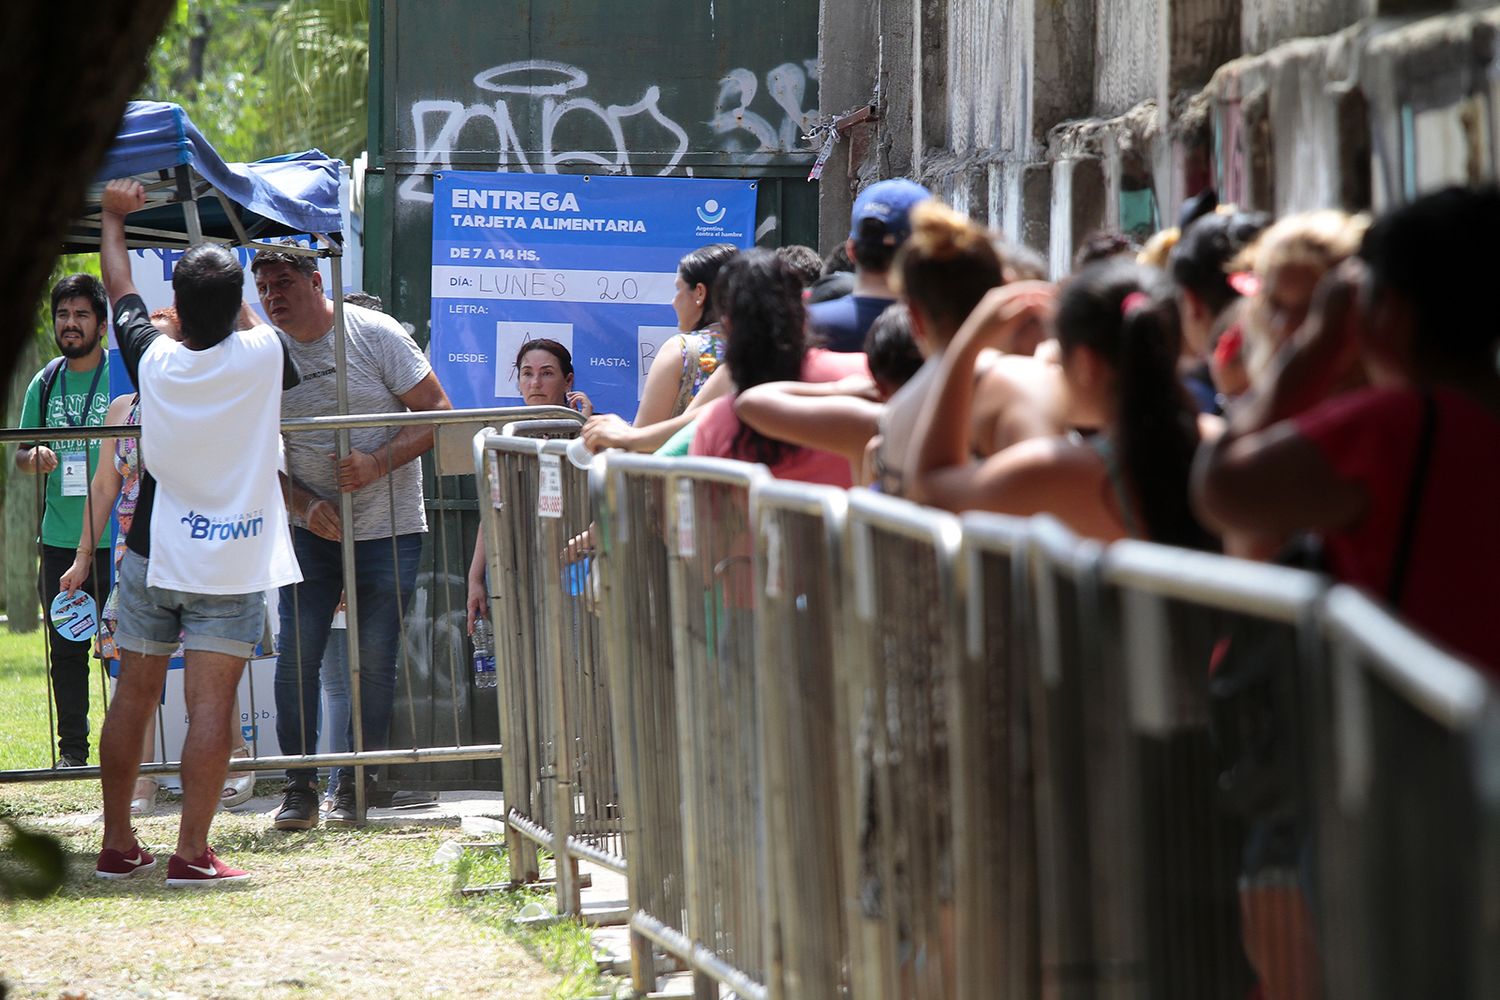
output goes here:
<path id="1" fill-rule="evenodd" d="M 556 861 L 558 912 L 579 915 L 578 861 L 624 873 L 620 793 L 594 600 L 588 465 L 566 427 L 544 421 L 482 432 L 489 484 L 486 552 L 496 630 L 501 724 L 507 733 L 512 879 L 534 880 L 536 847 Z M 576 424 L 574 424 L 576 429 Z"/>

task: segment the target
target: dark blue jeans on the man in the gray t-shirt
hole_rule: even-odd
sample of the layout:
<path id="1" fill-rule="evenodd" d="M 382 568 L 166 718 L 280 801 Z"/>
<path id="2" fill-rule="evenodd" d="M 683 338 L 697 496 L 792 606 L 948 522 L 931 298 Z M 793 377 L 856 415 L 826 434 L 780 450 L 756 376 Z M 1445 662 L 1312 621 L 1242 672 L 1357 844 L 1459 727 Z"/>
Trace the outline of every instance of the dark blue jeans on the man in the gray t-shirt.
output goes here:
<path id="1" fill-rule="evenodd" d="M 280 655 L 276 657 L 276 739 L 284 754 L 315 753 L 318 747 L 320 673 L 328 645 L 333 609 L 344 594 L 339 543 L 304 528 L 292 529 L 302 583 L 280 589 Z M 394 559 L 392 550 L 394 549 Z M 396 700 L 396 655 L 400 619 L 417 586 L 422 535 L 370 538 L 354 543 L 354 598 L 360 633 L 360 724 L 364 750 L 386 750 Z M 303 726 L 306 723 L 306 726 Z M 346 745 L 354 745 L 352 720 Z M 374 774 L 368 768 L 368 774 Z M 336 778 L 352 775 L 339 768 Z M 288 768 L 288 781 L 316 784 L 315 768 Z"/>

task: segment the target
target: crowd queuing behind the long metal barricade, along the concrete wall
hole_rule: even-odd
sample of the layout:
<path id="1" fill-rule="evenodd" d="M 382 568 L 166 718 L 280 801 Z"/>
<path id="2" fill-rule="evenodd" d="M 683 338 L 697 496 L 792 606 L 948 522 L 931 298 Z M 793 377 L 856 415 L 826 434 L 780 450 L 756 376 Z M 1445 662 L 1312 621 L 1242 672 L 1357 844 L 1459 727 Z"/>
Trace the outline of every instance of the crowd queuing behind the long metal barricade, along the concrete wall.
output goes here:
<path id="1" fill-rule="evenodd" d="M 819 276 L 807 247 L 684 258 L 684 345 L 714 348 L 664 351 L 651 379 L 674 405 L 592 417 L 584 439 L 686 438 L 1101 541 L 1270 561 L 1316 540 L 1335 579 L 1500 673 L 1480 612 L 1500 546 L 1500 330 L 1480 312 L 1497 213 L 1496 189 L 1374 220 L 1274 220 L 1204 192 L 1150 244 L 1096 234 L 1048 280 L 920 184 L 879 181 Z"/>

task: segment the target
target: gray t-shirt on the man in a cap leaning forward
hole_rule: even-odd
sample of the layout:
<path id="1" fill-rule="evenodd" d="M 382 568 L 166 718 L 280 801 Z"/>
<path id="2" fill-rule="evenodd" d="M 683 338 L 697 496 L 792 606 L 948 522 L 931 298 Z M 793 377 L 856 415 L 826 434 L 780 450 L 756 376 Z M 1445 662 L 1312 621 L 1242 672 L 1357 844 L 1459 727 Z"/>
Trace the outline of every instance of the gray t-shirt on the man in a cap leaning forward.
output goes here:
<path id="1" fill-rule="evenodd" d="M 350 412 L 404 414 L 398 399 L 428 376 L 432 366 L 422 355 L 417 342 L 399 322 L 382 312 L 344 306 L 348 333 Z M 286 351 L 302 372 L 302 384 L 282 393 L 282 418 L 332 417 L 338 411 L 339 394 L 333 367 L 333 330 L 312 343 L 300 343 L 278 330 Z M 350 432 L 350 445 L 378 456 L 396 427 L 362 427 Z M 324 499 L 338 502 L 339 480 L 334 472 L 332 430 L 285 435 L 286 469 L 292 478 Z M 392 519 L 392 496 L 396 501 Z M 297 514 L 292 525 L 306 526 Z M 378 478 L 354 493 L 354 540 L 388 538 L 428 529 L 422 498 L 422 462 L 396 468 L 392 480 Z"/>

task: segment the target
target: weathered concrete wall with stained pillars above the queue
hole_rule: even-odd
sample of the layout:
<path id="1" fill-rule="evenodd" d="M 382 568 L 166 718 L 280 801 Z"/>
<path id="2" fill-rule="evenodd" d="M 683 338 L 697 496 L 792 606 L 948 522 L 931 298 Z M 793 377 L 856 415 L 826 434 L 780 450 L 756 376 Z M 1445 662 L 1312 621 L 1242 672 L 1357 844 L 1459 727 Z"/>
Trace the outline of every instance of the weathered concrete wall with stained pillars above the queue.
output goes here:
<path id="1" fill-rule="evenodd" d="M 824 0 L 824 112 L 874 112 L 824 174 L 822 232 L 908 174 L 1062 273 L 1089 231 L 1170 226 L 1208 186 L 1286 213 L 1490 178 L 1497 30 L 1476 0 Z"/>

